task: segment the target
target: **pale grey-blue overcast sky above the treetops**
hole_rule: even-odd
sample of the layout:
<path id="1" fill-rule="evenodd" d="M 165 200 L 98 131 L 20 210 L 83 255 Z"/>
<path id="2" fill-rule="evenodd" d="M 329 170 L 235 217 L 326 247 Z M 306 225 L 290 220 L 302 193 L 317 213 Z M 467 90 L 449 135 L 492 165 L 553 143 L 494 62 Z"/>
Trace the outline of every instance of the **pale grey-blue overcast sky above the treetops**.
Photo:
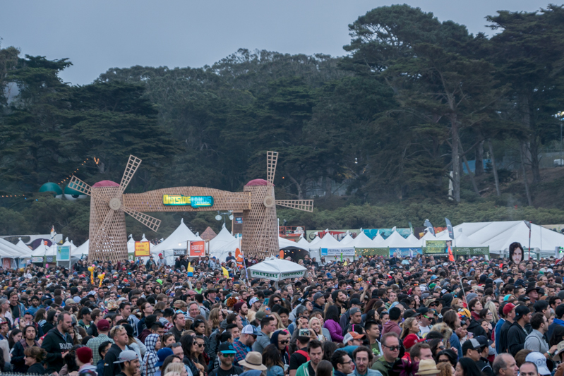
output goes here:
<path id="1" fill-rule="evenodd" d="M 550 1 L 550 0 L 548 0 Z M 536 11 L 547 0 L 408 0 L 474 34 L 493 31 L 485 17 L 498 10 Z M 92 83 L 109 68 L 200 67 L 239 48 L 342 56 L 348 25 L 383 0 L 3 0 L 1 47 L 68 58 L 64 81 Z M 399 3 L 402 4 L 402 3 Z"/>

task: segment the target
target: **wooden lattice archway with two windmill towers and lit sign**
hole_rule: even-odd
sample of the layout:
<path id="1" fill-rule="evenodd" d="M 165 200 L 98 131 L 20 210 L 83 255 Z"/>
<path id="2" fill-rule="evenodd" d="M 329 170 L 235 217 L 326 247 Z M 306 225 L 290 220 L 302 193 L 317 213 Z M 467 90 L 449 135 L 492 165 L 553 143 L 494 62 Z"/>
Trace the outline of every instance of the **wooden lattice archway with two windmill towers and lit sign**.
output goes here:
<path id="1" fill-rule="evenodd" d="M 137 171 L 141 159 L 131 155 L 121 183 L 99 181 L 89 186 L 76 176 L 69 188 L 90 195 L 90 260 L 126 260 L 127 236 L 125 213 L 157 231 L 160 219 L 143 212 L 203 212 L 232 210 L 243 212 L 241 248 L 248 256 L 277 255 L 278 224 L 276 205 L 307 212 L 313 211 L 313 200 L 275 200 L 274 176 L 277 152 L 267 152 L 267 180 L 255 179 L 247 183 L 243 192 L 227 192 L 213 188 L 174 187 L 150 190 L 145 193 L 124 193 Z M 181 198 L 179 204 L 170 204 L 165 197 Z M 196 199 L 206 203 L 194 205 Z M 210 200 L 211 199 L 211 200 Z"/>

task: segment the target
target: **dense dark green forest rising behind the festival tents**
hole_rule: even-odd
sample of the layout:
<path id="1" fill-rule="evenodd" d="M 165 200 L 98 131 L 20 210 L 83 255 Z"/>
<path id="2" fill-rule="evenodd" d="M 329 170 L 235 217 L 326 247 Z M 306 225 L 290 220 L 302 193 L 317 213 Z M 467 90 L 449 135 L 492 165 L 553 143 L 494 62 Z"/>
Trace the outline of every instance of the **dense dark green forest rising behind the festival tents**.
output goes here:
<path id="1" fill-rule="evenodd" d="M 289 225 L 564 223 L 564 174 L 540 163 L 561 145 L 564 8 L 487 22 L 492 37 L 383 6 L 349 25 L 342 57 L 240 49 L 202 68 L 112 68 L 83 86 L 59 78 L 68 59 L 2 48 L 0 195 L 18 197 L 0 198 L 0 233 L 54 224 L 88 238 L 89 200 L 37 193 L 47 181 L 64 188 L 73 171 L 91 184 L 119 181 L 134 154 L 143 164 L 127 192 L 238 191 L 265 178 L 267 150 L 280 152 L 277 198 L 326 186 L 313 213 L 278 210 Z M 496 165 L 508 151 L 519 169 Z M 464 174 L 469 160 L 475 172 Z M 158 234 L 129 218 L 128 232 L 167 236 L 181 217 L 193 231 L 218 229 L 215 214 L 151 214 L 163 219 Z"/>

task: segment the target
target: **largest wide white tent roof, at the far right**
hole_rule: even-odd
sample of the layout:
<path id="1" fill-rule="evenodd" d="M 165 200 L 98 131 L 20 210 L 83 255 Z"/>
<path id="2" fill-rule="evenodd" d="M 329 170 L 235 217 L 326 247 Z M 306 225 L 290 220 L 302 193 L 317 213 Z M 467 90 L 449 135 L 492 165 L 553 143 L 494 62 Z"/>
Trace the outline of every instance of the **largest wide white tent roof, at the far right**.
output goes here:
<path id="1" fill-rule="evenodd" d="M 553 253 L 556 247 L 564 246 L 563 234 L 536 224 L 531 226 L 531 248 Z M 508 250 L 515 241 L 524 248 L 529 245 L 529 227 L 523 221 L 463 223 L 455 226 L 455 234 L 459 231 L 481 246 L 489 246 L 494 252 Z"/>

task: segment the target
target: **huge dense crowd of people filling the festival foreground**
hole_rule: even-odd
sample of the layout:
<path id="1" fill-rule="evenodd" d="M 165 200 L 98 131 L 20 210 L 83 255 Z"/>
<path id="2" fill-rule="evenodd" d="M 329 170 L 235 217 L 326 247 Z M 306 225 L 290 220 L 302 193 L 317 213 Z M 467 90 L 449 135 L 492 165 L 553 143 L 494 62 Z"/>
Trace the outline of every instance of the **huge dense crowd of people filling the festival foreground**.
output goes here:
<path id="1" fill-rule="evenodd" d="M 305 256 L 270 281 L 227 258 L 0 269 L 0 372 L 564 376 L 560 260 Z"/>

